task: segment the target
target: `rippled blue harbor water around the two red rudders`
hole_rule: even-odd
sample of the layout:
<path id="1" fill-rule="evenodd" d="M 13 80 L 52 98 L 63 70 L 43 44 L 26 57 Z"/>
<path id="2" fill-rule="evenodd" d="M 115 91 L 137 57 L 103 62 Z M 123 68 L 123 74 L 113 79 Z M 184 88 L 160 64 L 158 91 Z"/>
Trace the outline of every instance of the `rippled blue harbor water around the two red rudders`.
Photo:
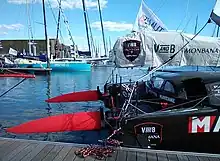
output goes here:
<path id="1" fill-rule="evenodd" d="M 106 131 L 15 135 L 6 133 L 4 128 L 50 115 L 99 110 L 103 107 L 101 101 L 48 104 L 45 100 L 64 93 L 96 89 L 97 86 L 103 91 L 106 81 L 113 79 L 111 76 L 113 69 L 112 67 L 93 67 L 89 72 L 52 72 L 50 76 L 37 75 L 35 79 L 25 80 L 0 97 L 0 136 L 75 143 L 96 143 L 98 139 L 107 137 Z M 118 82 L 119 75 L 123 77 L 123 81 L 134 81 L 145 74 L 146 70 L 147 68 L 115 69 L 114 73 L 118 75 Z M 21 80 L 22 78 L 0 78 L 0 94 Z"/>

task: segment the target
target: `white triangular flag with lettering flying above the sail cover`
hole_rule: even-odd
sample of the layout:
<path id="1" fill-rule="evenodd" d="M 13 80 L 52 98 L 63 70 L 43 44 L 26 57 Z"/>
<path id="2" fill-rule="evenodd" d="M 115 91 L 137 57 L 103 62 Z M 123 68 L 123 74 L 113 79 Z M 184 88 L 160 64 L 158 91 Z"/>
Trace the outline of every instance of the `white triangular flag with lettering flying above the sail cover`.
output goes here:
<path id="1" fill-rule="evenodd" d="M 135 24 L 134 31 L 151 30 L 151 31 L 167 31 L 163 22 L 154 14 L 154 12 L 147 7 L 142 0 Z"/>

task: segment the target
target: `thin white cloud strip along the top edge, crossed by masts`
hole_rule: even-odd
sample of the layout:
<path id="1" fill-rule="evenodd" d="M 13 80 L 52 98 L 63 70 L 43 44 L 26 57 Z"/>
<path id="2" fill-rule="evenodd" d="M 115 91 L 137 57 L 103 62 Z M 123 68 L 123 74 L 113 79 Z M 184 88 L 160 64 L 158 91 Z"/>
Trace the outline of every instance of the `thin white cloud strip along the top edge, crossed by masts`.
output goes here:
<path id="1" fill-rule="evenodd" d="M 29 0 L 28 3 L 41 3 L 42 0 Z M 58 0 L 50 0 L 49 1 L 53 8 L 58 7 Z M 13 4 L 27 4 L 27 0 L 8 0 L 8 3 Z M 100 0 L 101 8 L 105 8 L 107 5 L 107 0 Z M 62 9 L 73 9 L 79 8 L 82 9 L 82 1 L 81 0 L 62 0 L 61 2 Z M 96 0 L 85 0 L 85 5 L 87 9 L 97 8 Z"/>

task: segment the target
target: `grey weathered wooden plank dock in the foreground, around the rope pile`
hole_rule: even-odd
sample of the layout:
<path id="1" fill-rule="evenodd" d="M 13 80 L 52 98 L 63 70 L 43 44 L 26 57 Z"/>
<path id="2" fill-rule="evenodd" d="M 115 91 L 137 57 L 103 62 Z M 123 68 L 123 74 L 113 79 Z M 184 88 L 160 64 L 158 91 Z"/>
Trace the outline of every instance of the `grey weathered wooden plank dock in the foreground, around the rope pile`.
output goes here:
<path id="1" fill-rule="evenodd" d="M 85 145 L 0 137 L 0 161 L 95 161 L 75 150 Z M 220 154 L 118 148 L 106 161 L 220 161 Z"/>

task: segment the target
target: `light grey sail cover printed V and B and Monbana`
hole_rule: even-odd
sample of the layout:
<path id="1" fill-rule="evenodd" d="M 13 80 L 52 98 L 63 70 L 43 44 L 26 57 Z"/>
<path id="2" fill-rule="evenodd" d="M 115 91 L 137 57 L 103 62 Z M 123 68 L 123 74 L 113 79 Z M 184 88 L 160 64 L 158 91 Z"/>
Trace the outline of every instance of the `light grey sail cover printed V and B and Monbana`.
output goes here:
<path id="1" fill-rule="evenodd" d="M 215 37 L 179 32 L 133 32 L 119 38 L 113 48 L 117 67 L 158 66 L 184 47 L 170 66 L 217 66 L 220 41 Z"/>

